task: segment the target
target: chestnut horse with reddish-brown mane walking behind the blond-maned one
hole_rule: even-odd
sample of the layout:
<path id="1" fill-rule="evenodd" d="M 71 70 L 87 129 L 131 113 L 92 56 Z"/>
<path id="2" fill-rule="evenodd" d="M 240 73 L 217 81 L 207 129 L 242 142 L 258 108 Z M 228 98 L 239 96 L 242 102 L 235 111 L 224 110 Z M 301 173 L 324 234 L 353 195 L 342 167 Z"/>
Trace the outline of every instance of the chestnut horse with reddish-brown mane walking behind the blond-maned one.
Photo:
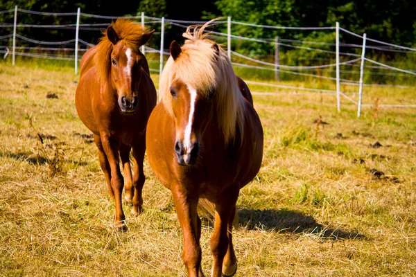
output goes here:
<path id="1" fill-rule="evenodd" d="M 152 34 L 153 31 L 147 32 L 133 21 L 118 19 L 113 22 L 100 43 L 83 55 L 76 88 L 76 110 L 94 134 L 110 198 L 115 199 L 115 224 L 119 229 L 127 228 L 121 203 L 123 186 L 125 200 L 132 202 L 134 214 L 141 212 L 143 203 L 146 123 L 157 96 L 148 62 L 139 47 Z M 130 150 L 135 161 L 133 176 Z"/>

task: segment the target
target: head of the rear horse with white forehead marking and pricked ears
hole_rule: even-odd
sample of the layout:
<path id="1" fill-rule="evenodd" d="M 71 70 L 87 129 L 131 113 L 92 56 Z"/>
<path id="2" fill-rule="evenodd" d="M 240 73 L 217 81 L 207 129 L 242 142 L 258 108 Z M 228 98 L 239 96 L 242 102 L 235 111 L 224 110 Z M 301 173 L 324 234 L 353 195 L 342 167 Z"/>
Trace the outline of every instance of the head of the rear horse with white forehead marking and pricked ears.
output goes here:
<path id="1" fill-rule="evenodd" d="M 139 39 L 129 41 L 119 35 L 120 31 L 108 26 L 107 39 L 111 42 L 110 79 L 112 88 L 117 92 L 118 103 L 123 114 L 135 112 L 139 101 L 139 84 L 141 80 L 141 65 L 146 57 L 139 51 L 153 31 L 142 33 Z"/>

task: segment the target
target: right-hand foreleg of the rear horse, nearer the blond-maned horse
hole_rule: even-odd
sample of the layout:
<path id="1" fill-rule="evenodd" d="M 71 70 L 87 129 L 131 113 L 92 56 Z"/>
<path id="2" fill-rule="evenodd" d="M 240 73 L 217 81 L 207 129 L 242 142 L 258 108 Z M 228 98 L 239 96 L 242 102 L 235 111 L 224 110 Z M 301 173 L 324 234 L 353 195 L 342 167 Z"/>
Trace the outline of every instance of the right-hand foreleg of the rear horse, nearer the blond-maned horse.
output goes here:
<path id="1" fill-rule="evenodd" d="M 133 148 L 133 159 L 135 160 L 135 174 L 133 175 L 133 186 L 135 194 L 133 197 L 132 213 L 138 215 L 142 211 L 143 197 L 142 190 L 146 177 L 143 172 L 144 152 L 146 152 L 146 138 L 143 136 L 139 143 Z"/>

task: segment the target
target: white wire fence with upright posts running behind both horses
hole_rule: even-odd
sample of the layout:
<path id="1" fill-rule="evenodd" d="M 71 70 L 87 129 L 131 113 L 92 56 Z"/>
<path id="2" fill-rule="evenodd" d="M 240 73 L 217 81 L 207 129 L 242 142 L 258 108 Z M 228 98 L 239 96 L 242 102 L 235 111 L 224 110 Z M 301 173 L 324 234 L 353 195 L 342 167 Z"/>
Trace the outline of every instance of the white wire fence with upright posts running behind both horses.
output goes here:
<path id="1" fill-rule="evenodd" d="M 82 31 L 100 31 L 102 32 L 110 24 L 108 20 L 118 19 L 120 17 L 113 16 L 104 16 L 104 15 L 91 15 L 80 12 L 78 8 L 77 12 L 37 12 L 32 10 L 23 10 L 15 7 L 12 10 L 3 10 L 0 11 L 0 15 L 13 13 L 14 12 L 14 21 L 13 23 L 0 22 L 0 28 L 3 30 L 10 30 L 10 34 L 0 36 L 0 53 L 3 54 L 4 58 L 7 58 L 9 55 L 12 55 L 12 64 L 15 65 L 15 56 L 26 56 L 26 57 L 37 57 L 51 60 L 69 60 L 74 62 L 74 71 L 78 73 L 78 63 L 83 53 L 85 53 L 88 48 L 94 46 L 94 44 L 87 42 L 89 39 L 87 37 L 80 38 L 80 30 Z M 17 19 L 20 14 L 33 14 L 33 15 L 42 15 L 42 16 L 53 16 L 53 17 L 73 17 L 73 24 L 19 24 Z M 94 23 L 94 24 L 80 24 L 81 18 L 89 19 L 104 19 L 107 20 L 105 23 Z M 206 21 L 182 21 L 174 19 L 165 19 L 148 17 L 141 12 L 139 16 L 130 16 L 123 17 L 125 19 L 134 19 L 139 21 L 142 26 L 155 26 L 159 24 L 160 32 L 155 32 L 153 37 L 159 35 L 159 43 L 156 45 L 158 48 L 151 48 L 149 46 L 143 46 L 141 51 L 146 55 L 146 53 L 153 53 L 159 55 L 159 69 L 151 68 L 150 71 L 155 73 L 160 73 L 163 70 L 164 66 L 164 56 L 170 55 L 164 47 L 164 37 L 165 26 L 175 26 L 178 28 L 187 28 L 192 24 L 203 24 Z M 255 84 L 256 87 L 264 88 L 277 88 L 277 89 L 286 89 L 289 91 L 295 90 L 293 92 L 268 92 L 268 91 L 253 91 L 253 94 L 258 95 L 277 95 L 277 94 L 289 94 L 289 95 L 301 95 L 299 91 L 307 91 L 306 93 L 320 93 L 320 94 L 333 94 L 336 96 L 337 100 L 337 109 L 340 109 L 340 99 L 341 97 L 345 98 L 347 101 L 352 102 L 357 106 L 357 116 L 361 115 L 361 107 L 370 106 L 369 103 L 363 103 L 363 87 L 395 87 L 397 89 L 408 89 L 410 93 L 415 93 L 416 87 L 407 86 L 407 85 L 397 85 L 397 84 L 379 84 L 379 83 L 365 83 L 364 82 L 364 73 L 368 75 L 379 75 L 389 76 L 391 78 L 410 78 L 410 83 L 414 83 L 416 79 L 416 71 L 408 68 L 402 68 L 401 64 L 399 66 L 385 64 L 376 60 L 371 60 L 370 58 L 365 57 L 365 50 L 370 49 L 372 51 L 385 51 L 386 53 L 404 53 L 406 55 L 416 55 L 416 48 L 410 48 L 406 46 L 400 46 L 396 44 L 390 44 L 388 42 L 381 42 L 376 39 L 368 38 L 366 34 L 358 35 L 353 33 L 345 28 L 341 28 L 337 22 L 336 26 L 328 27 L 293 27 L 293 26 L 266 26 L 266 25 L 257 25 L 244 23 L 239 21 L 232 21 L 230 17 L 224 17 L 223 19 L 227 20 L 218 20 L 214 24 L 226 24 L 227 33 L 220 33 L 216 31 L 211 31 L 211 36 L 214 39 L 223 42 L 223 45 L 226 45 L 227 54 L 232 60 L 232 64 L 235 69 L 250 69 L 252 71 L 270 71 L 275 75 L 275 80 L 280 79 L 281 74 L 293 75 L 293 76 L 302 76 L 304 78 L 311 78 L 313 80 L 318 80 L 322 82 L 325 80 L 330 82 L 332 85 L 335 84 L 335 89 L 322 89 L 322 88 L 313 88 L 313 87 L 294 87 L 284 84 L 276 84 L 270 82 L 254 82 L 247 81 L 249 84 Z M 241 35 L 232 34 L 233 26 L 245 26 L 250 28 L 262 28 L 270 30 L 294 30 L 294 31 L 327 31 L 334 32 L 335 42 L 316 42 L 316 41 L 304 41 L 291 38 L 282 38 L 275 37 L 271 39 L 267 38 L 254 38 L 254 37 L 244 37 Z M 73 30 L 74 38 L 64 41 L 55 41 L 55 42 L 46 42 L 30 37 L 24 37 L 19 34 L 21 28 L 43 28 L 43 29 L 56 29 L 56 30 Z M 225 29 L 225 28 L 223 28 Z M 348 44 L 345 42 L 340 42 L 340 32 L 343 32 L 345 35 L 352 35 L 356 39 L 362 39 L 363 44 Z M 4 33 L 4 32 L 3 32 Z M 10 46 L 10 40 L 12 46 Z M 243 55 L 243 53 L 238 53 L 238 49 L 232 50 L 232 42 L 255 42 L 259 44 L 268 44 L 275 48 L 274 62 L 270 62 L 270 57 L 267 57 L 267 61 L 261 57 L 249 57 L 248 55 Z M 366 45 L 367 42 L 376 43 L 379 45 Z M 19 46 L 19 44 L 21 46 Z M 320 48 L 322 46 L 322 48 Z M 11 48 L 11 49 L 10 49 Z M 335 48 L 335 51 L 328 50 L 328 48 Z M 340 51 L 341 48 L 356 50 L 361 48 L 361 55 L 358 53 L 349 53 L 348 51 Z M 283 49 L 297 49 L 299 51 L 306 51 L 307 53 L 313 53 L 313 57 L 298 57 L 299 61 L 302 59 L 308 60 L 311 62 L 318 62 L 319 64 L 309 64 L 305 66 L 300 65 L 291 65 L 283 64 L 281 59 L 279 59 L 280 52 Z M 357 51 L 355 51 L 357 52 Z M 80 54 L 81 55 L 78 55 Z M 330 57 L 317 57 L 317 53 L 322 53 L 324 55 L 331 55 Z M 335 56 L 335 57 L 334 57 Z M 341 59 L 343 61 L 341 61 Z M 322 62 L 327 61 L 326 64 Z M 297 62 L 299 64 L 299 62 Z M 372 65 L 370 65 L 372 64 Z M 341 69 L 342 67 L 342 69 Z M 356 70 L 359 68 L 359 70 Z M 309 71 L 309 73 L 306 73 Z M 381 72 L 382 71 L 382 72 Z M 335 73 L 335 74 L 334 74 Z M 344 78 L 340 78 L 340 74 L 343 74 Z M 358 75 L 359 78 L 354 78 L 354 75 Z M 347 78 L 348 77 L 348 78 Z M 413 79 L 412 79 L 413 78 Z M 341 85 L 358 87 L 358 91 L 346 92 L 341 91 Z M 266 89 L 265 89 L 266 90 Z M 350 96 L 358 95 L 358 100 L 354 100 Z M 397 104 L 386 104 L 379 105 L 379 107 L 411 107 L 414 108 L 416 105 L 413 103 L 397 105 Z"/>

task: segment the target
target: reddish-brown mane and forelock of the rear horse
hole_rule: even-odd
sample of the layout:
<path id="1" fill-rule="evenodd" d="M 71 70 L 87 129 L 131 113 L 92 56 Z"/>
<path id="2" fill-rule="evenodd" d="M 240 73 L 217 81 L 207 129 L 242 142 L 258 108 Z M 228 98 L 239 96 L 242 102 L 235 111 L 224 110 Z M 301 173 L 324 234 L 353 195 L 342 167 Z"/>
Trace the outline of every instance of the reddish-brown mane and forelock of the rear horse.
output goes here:
<path id="1" fill-rule="evenodd" d="M 132 53 L 140 53 L 140 46 L 143 45 L 142 39 L 147 29 L 128 19 L 117 19 L 111 24 L 116 34 L 119 36 L 119 42 L 131 49 Z M 111 69 L 111 58 L 113 44 L 107 37 L 107 30 L 103 32 L 100 42 L 96 46 L 94 63 L 101 80 L 107 80 Z"/>

